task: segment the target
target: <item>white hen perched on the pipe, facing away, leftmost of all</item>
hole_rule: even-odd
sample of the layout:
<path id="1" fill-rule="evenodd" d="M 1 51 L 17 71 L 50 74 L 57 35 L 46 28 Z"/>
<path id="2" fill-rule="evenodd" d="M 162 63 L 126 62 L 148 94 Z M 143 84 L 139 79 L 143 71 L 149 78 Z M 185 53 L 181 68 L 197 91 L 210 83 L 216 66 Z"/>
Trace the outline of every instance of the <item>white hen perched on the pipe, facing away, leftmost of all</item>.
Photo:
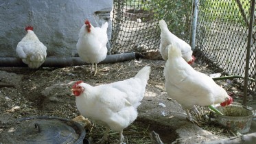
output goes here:
<path id="1" fill-rule="evenodd" d="M 27 34 L 16 47 L 16 54 L 32 69 L 40 67 L 47 56 L 47 47 L 40 42 L 32 26 L 25 27 Z"/>

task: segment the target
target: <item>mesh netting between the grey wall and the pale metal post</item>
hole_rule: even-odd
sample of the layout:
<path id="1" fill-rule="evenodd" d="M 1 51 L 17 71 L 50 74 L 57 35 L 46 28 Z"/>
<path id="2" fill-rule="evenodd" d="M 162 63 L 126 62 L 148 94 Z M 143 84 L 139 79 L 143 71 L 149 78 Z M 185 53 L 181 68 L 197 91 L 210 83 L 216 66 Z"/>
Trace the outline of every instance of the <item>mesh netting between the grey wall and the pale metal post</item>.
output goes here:
<path id="1" fill-rule="evenodd" d="M 191 2 L 178 0 L 114 1 L 111 54 L 158 52 L 160 19 L 176 36 L 189 40 L 190 7 Z M 151 56 L 156 58 L 159 55 Z"/>

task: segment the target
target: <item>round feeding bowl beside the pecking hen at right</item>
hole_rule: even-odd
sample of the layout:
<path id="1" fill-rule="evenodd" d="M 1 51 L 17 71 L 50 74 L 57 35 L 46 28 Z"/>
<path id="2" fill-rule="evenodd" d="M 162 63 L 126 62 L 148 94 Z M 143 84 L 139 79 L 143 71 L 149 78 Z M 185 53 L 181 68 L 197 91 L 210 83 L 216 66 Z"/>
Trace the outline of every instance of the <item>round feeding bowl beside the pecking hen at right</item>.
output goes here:
<path id="1" fill-rule="evenodd" d="M 250 130 L 253 119 L 252 108 L 241 104 L 231 104 L 225 107 L 217 106 L 216 108 L 224 114 L 217 115 L 218 123 L 242 134 Z"/>

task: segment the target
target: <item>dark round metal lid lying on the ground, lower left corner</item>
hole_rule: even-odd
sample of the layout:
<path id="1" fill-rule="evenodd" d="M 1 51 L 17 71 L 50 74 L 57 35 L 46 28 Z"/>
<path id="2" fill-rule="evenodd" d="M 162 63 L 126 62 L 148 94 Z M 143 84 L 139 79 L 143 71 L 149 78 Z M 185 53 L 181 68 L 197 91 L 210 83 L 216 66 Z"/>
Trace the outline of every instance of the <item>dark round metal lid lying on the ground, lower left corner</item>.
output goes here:
<path id="1" fill-rule="evenodd" d="M 85 130 L 75 121 L 58 117 L 26 117 L 1 134 L 8 143 L 82 144 Z"/>

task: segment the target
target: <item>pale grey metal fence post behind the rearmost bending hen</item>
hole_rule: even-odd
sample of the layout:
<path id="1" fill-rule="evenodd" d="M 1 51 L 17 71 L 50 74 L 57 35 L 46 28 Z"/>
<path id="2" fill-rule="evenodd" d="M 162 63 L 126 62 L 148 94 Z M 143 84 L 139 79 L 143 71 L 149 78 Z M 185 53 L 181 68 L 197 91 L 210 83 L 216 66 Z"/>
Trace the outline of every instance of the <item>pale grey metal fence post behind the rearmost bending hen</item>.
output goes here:
<path id="1" fill-rule="evenodd" d="M 196 47 L 196 23 L 198 21 L 198 0 L 194 0 L 193 3 L 193 18 L 191 25 L 191 34 L 190 34 L 190 45 L 191 49 L 194 51 Z"/>

